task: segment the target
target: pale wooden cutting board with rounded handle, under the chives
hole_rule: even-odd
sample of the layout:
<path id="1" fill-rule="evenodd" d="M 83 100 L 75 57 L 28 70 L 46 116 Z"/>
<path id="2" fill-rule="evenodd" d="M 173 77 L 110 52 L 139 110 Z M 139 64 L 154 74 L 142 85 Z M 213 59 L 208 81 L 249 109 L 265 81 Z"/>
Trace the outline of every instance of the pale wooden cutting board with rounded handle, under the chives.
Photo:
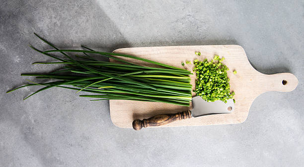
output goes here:
<path id="1" fill-rule="evenodd" d="M 209 45 L 209 46 L 173 46 L 123 48 L 114 53 L 128 54 L 147 58 L 161 63 L 183 68 L 181 62 L 194 59 L 212 59 L 215 55 L 225 57 L 223 61 L 229 68 L 231 91 L 235 92 L 235 109 L 232 113 L 200 116 L 191 119 L 175 121 L 164 126 L 197 126 L 214 124 L 241 123 L 246 120 L 253 100 L 267 91 L 289 92 L 298 85 L 298 79 L 291 73 L 266 75 L 255 70 L 249 63 L 244 49 L 238 45 Z M 195 55 L 201 52 L 201 56 Z M 120 57 L 122 58 L 122 57 Z M 147 62 L 124 58 L 136 64 L 150 65 Z M 113 59 L 110 59 L 114 61 Z M 186 69 L 192 71 L 193 63 L 186 64 Z M 232 71 L 237 73 L 233 74 Z M 284 81 L 283 81 L 284 80 Z M 284 85 L 284 84 L 285 85 Z M 191 84 L 195 88 L 195 75 L 191 75 Z M 195 93 L 192 93 L 194 96 Z M 191 110 L 192 107 L 181 107 L 157 102 L 138 102 L 126 100 L 110 100 L 110 114 L 113 123 L 122 128 L 132 128 L 134 119 L 144 119 L 163 113 L 175 113 Z M 163 126 L 161 126 L 163 127 Z"/>

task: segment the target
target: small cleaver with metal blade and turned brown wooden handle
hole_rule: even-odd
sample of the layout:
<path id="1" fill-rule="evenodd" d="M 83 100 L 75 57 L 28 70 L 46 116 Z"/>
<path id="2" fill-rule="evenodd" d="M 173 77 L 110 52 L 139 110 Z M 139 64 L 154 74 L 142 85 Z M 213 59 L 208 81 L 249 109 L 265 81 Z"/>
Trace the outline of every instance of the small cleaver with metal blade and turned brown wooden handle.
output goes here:
<path id="1" fill-rule="evenodd" d="M 140 130 L 143 127 L 161 126 L 176 120 L 187 119 L 211 114 L 231 113 L 234 111 L 233 99 L 229 99 L 227 103 L 223 101 L 207 102 L 200 96 L 192 98 L 193 109 L 177 113 L 168 113 L 155 115 L 148 119 L 135 119 L 132 123 L 133 129 Z"/>

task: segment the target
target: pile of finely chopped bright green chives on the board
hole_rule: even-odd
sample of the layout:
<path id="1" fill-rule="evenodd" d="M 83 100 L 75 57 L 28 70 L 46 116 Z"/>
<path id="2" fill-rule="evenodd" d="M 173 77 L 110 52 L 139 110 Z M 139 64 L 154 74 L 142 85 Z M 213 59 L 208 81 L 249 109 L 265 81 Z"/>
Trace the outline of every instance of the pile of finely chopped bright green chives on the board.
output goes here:
<path id="1" fill-rule="evenodd" d="M 197 54 L 196 54 L 197 55 Z M 226 65 L 222 63 L 225 58 L 215 56 L 208 62 L 207 58 L 203 61 L 194 60 L 194 71 L 196 72 L 195 92 L 207 102 L 221 100 L 227 103 L 228 99 L 233 98 L 234 92 L 230 93 L 229 78 Z"/>

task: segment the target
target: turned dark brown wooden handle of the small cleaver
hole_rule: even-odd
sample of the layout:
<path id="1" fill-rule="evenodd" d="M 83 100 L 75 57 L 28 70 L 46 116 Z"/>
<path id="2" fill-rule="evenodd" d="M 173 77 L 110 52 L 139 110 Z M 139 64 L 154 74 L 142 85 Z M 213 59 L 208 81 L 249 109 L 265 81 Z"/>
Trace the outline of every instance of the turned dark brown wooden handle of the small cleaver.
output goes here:
<path id="1" fill-rule="evenodd" d="M 155 115 L 148 119 L 135 119 L 132 123 L 133 129 L 135 130 L 141 130 L 143 127 L 149 127 L 149 126 L 161 126 L 165 125 L 171 122 L 174 122 L 176 120 L 182 120 L 191 118 L 191 111 L 183 111 L 183 112 L 177 112 L 177 113 L 169 113 L 169 114 L 161 114 L 161 115 Z"/>

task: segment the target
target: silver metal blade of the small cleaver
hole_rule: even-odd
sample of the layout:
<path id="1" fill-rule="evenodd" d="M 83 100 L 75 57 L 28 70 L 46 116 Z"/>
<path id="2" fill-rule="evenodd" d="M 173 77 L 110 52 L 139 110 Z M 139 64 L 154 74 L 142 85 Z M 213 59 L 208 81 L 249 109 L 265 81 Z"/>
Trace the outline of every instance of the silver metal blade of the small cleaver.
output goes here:
<path id="1" fill-rule="evenodd" d="M 230 113 L 234 111 L 233 99 L 229 99 L 227 103 L 223 101 L 206 102 L 200 96 L 192 98 L 192 116 L 203 116 L 219 113 Z"/>

